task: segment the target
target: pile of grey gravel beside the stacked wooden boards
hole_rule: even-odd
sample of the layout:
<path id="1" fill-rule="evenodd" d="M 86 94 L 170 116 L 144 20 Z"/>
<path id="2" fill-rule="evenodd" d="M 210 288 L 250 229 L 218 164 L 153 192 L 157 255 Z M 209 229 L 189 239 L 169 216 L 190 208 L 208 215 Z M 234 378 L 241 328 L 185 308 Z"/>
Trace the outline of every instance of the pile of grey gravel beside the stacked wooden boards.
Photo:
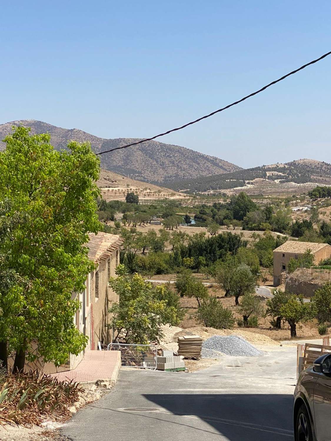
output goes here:
<path id="1" fill-rule="evenodd" d="M 260 357 L 263 355 L 262 351 L 254 348 L 254 346 L 248 343 L 247 340 L 235 335 L 213 335 L 203 342 L 202 348 L 201 356 L 203 358 L 221 358 L 219 355 L 218 357 L 207 355 L 208 353 L 212 354 L 215 351 L 218 353 L 222 352 L 226 355 L 232 355 L 233 357 Z"/>

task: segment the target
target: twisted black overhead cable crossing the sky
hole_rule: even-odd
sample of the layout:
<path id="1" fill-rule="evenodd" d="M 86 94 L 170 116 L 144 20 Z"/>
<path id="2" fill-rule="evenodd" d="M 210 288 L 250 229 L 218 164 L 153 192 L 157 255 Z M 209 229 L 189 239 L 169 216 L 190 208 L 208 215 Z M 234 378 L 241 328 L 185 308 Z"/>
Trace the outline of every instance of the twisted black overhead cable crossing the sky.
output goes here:
<path id="1" fill-rule="evenodd" d="M 226 109 L 228 109 L 228 108 L 230 108 L 232 106 L 235 106 L 236 104 L 241 103 L 242 101 L 247 100 L 247 98 L 253 97 L 254 95 L 257 95 L 258 93 L 263 92 L 263 90 L 266 90 L 268 87 L 273 86 L 274 84 L 284 80 L 285 78 L 289 77 L 290 75 L 294 75 L 297 72 L 302 71 L 302 69 L 305 69 L 305 67 L 310 66 L 311 64 L 317 63 L 317 61 L 323 60 L 323 58 L 327 57 L 330 54 L 331 54 L 331 51 L 327 52 L 326 54 L 324 54 L 322 56 L 320 56 L 319 58 L 316 58 L 316 60 L 310 61 L 310 63 L 304 64 L 303 66 L 299 67 L 298 69 L 295 69 L 295 71 L 289 72 L 288 74 L 282 76 L 281 78 L 278 78 L 278 80 L 272 81 L 271 83 L 267 84 L 267 86 L 263 86 L 261 89 L 256 90 L 256 92 L 250 93 L 246 97 L 241 98 L 241 100 L 234 101 L 233 103 L 231 103 L 231 104 L 229 104 L 229 105 L 227 105 L 225 107 L 222 107 L 222 108 L 220 108 L 218 110 L 215 110 L 214 112 L 211 112 L 208 115 L 201 116 L 201 118 L 198 118 L 197 120 L 191 121 L 190 123 L 184 124 L 181 127 L 176 127 L 175 129 L 168 130 L 168 131 L 166 131 L 164 133 L 160 133 L 159 135 L 152 136 L 151 138 L 141 139 L 140 141 L 132 142 L 131 144 L 127 144 L 127 145 L 121 146 L 121 147 L 115 147 L 114 149 L 105 150 L 104 152 L 99 152 L 99 153 L 96 153 L 96 154 L 97 155 L 102 155 L 104 153 L 110 153 L 110 152 L 113 152 L 115 150 L 127 149 L 128 147 L 136 146 L 136 145 L 142 144 L 143 142 L 146 142 L 146 141 L 152 141 L 153 139 L 159 138 L 160 136 L 168 135 L 171 132 L 175 132 L 177 130 L 184 129 L 185 127 L 188 127 L 188 126 L 191 126 L 192 124 L 198 123 L 201 120 L 205 120 L 206 118 L 209 118 L 210 116 L 215 115 L 215 113 L 222 112 L 223 110 L 226 110 Z"/>

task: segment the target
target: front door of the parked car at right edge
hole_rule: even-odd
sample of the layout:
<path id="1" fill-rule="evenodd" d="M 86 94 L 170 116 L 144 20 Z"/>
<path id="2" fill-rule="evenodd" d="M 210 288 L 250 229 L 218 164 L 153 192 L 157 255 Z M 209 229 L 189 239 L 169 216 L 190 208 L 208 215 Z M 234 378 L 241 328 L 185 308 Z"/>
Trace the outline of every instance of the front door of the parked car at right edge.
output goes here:
<path id="1" fill-rule="evenodd" d="M 314 387 L 315 429 L 318 441 L 331 441 L 331 354 L 323 361 Z"/>

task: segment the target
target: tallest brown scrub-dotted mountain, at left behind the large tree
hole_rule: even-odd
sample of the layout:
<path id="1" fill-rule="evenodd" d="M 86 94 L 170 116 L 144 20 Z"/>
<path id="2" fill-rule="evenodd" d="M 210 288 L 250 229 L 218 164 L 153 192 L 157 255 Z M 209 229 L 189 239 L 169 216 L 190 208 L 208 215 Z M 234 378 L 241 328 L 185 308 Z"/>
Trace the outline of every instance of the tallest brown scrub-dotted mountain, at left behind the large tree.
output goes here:
<path id="1" fill-rule="evenodd" d="M 11 133 L 13 125 L 31 127 L 32 133 L 48 132 L 51 135 L 53 146 L 57 149 L 65 148 L 70 140 L 89 141 L 93 150 L 98 153 L 139 140 L 135 138 L 98 138 L 98 136 L 90 135 L 79 129 L 64 129 L 36 120 L 19 120 L 0 124 L 0 139 Z M 1 148 L 4 148 L 2 142 L 0 142 Z M 240 170 L 237 165 L 217 157 L 158 141 L 147 141 L 139 146 L 106 153 L 101 155 L 100 159 L 102 167 L 107 170 L 132 179 L 154 183 Z"/>

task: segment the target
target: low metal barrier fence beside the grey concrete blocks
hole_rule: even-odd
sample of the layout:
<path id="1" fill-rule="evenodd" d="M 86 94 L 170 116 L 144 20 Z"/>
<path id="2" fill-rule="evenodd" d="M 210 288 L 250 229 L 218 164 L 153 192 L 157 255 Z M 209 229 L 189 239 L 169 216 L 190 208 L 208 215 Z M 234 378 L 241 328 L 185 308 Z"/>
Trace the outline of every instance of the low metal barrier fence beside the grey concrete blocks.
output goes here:
<path id="1" fill-rule="evenodd" d="M 120 351 L 121 366 L 156 370 L 158 351 L 150 344 L 109 343 L 108 351 Z"/>

